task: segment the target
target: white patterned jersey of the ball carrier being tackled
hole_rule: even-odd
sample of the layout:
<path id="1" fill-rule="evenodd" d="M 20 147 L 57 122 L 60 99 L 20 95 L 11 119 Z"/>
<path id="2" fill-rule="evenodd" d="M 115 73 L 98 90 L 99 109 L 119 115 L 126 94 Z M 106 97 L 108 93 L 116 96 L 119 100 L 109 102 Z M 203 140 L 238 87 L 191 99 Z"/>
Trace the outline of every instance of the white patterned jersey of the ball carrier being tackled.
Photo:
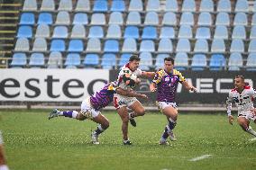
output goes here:
<path id="1" fill-rule="evenodd" d="M 123 82 L 123 75 L 125 74 L 131 75 L 131 78 L 134 80 L 137 76 L 142 76 L 142 70 L 140 68 L 137 68 L 135 71 L 132 71 L 129 67 L 129 63 L 121 68 L 117 77 L 117 85 L 125 90 L 132 89 L 132 86 L 125 85 L 125 83 Z"/>

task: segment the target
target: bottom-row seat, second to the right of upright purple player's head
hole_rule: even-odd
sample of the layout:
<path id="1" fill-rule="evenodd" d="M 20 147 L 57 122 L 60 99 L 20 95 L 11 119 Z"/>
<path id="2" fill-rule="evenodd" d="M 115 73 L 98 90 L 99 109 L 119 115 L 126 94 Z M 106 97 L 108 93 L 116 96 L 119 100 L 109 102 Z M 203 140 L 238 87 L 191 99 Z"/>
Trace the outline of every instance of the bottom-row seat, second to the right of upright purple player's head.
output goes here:
<path id="1" fill-rule="evenodd" d="M 206 55 L 195 54 L 192 58 L 191 69 L 193 71 L 203 71 L 207 67 Z"/>

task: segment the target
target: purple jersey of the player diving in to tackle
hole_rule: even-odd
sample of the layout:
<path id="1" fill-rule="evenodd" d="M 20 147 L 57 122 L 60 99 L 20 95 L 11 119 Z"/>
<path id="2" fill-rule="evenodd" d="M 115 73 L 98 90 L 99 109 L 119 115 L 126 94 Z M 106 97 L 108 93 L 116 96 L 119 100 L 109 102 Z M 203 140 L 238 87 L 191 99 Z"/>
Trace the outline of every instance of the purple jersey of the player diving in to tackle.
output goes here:
<path id="1" fill-rule="evenodd" d="M 100 89 L 96 94 L 90 97 L 90 103 L 96 111 L 105 108 L 109 103 L 113 102 L 114 94 L 118 86 L 111 82 L 106 84 L 102 89 Z"/>

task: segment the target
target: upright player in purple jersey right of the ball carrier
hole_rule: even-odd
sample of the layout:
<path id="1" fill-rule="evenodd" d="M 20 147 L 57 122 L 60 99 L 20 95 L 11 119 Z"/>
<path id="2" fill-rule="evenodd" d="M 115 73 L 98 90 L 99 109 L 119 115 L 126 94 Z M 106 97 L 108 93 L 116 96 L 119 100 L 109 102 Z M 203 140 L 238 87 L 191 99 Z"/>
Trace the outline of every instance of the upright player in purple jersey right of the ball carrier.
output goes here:
<path id="1" fill-rule="evenodd" d="M 150 85 L 151 92 L 157 90 L 158 107 L 160 108 L 160 112 L 166 115 L 168 120 L 168 124 L 160 139 L 160 145 L 168 145 L 168 137 L 171 140 L 176 140 L 173 129 L 176 126 L 178 118 L 178 109 L 175 102 L 178 83 L 184 85 L 187 90 L 197 91 L 197 89 L 193 85 L 189 85 L 184 76 L 173 67 L 174 59 L 164 58 L 164 69 L 160 69 L 156 72 Z"/>

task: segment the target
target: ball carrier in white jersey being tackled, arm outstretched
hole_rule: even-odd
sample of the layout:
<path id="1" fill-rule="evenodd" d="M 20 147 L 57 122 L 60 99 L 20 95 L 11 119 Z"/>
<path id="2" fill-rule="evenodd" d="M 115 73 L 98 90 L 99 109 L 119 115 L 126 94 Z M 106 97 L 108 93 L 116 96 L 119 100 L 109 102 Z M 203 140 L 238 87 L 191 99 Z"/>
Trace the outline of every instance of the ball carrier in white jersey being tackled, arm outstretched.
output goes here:
<path id="1" fill-rule="evenodd" d="M 154 72 L 145 72 L 138 68 L 140 60 L 141 58 L 133 54 L 129 58 L 129 63 L 121 68 L 117 78 L 119 87 L 125 90 L 133 90 L 133 87 L 141 82 L 138 76 L 153 78 L 155 75 Z M 131 124 L 136 126 L 136 122 L 133 118 L 143 116 L 145 114 L 145 109 L 142 106 L 142 103 L 140 103 L 135 97 L 127 97 L 120 94 L 114 94 L 114 107 L 123 121 L 123 144 L 131 145 L 132 143 L 128 139 L 128 122 L 130 120 Z M 128 114 L 127 107 L 132 109 L 133 112 Z"/>

